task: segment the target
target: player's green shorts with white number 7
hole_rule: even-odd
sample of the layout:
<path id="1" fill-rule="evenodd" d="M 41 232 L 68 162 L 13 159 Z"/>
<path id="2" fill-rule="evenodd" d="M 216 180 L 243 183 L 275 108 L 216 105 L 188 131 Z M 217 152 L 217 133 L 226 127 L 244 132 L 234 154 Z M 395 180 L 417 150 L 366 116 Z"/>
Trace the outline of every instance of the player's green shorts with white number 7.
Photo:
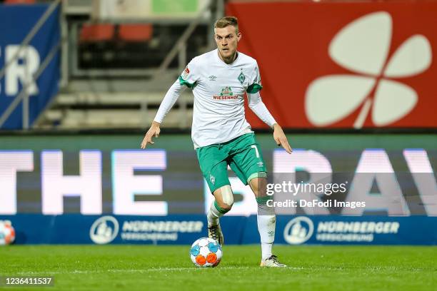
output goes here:
<path id="1" fill-rule="evenodd" d="M 211 193 L 224 185 L 231 185 L 228 165 L 244 185 L 253 178 L 267 177 L 266 163 L 254 133 L 243 134 L 226 143 L 197 148 L 196 152 Z"/>

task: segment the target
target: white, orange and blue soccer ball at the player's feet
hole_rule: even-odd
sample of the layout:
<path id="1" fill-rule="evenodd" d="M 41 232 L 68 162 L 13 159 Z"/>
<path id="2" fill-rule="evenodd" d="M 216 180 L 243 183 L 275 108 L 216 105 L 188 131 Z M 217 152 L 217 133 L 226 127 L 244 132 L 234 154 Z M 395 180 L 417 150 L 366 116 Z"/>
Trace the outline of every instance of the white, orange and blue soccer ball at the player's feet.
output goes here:
<path id="1" fill-rule="evenodd" d="M 199 238 L 191 245 L 190 257 L 197 267 L 216 267 L 222 255 L 221 245 L 212 238 Z"/>

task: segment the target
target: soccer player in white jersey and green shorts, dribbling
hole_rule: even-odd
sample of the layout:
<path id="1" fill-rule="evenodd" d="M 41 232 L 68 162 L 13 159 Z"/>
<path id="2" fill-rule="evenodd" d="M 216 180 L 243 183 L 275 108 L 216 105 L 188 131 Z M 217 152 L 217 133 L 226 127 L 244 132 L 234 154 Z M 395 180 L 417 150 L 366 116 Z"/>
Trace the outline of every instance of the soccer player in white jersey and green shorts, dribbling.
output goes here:
<path id="1" fill-rule="evenodd" d="M 267 170 L 251 126 L 244 116 L 244 92 L 248 106 L 268 126 L 273 138 L 287 153 L 291 147 L 271 113 L 261 101 L 261 77 L 256 60 L 237 51 L 241 32 L 236 17 L 218 19 L 214 24 L 217 49 L 193 58 L 170 87 L 147 131 L 141 148 L 158 138 L 164 116 L 184 88 L 193 90 L 194 116 L 191 138 L 201 172 L 214 195 L 208 218 L 208 235 L 223 244 L 218 219 L 231 210 L 233 193 L 228 165 L 245 185 L 250 185 L 258 203 L 258 231 L 261 237 L 261 266 L 286 267 L 272 254 L 276 216 L 266 205 Z"/>

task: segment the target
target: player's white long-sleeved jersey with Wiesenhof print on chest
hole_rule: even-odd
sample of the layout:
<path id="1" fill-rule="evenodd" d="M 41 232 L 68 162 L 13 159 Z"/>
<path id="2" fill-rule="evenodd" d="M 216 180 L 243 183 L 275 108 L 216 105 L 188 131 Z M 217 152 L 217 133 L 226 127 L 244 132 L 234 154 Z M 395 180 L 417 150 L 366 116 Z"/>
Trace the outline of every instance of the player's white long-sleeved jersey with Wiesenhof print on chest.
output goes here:
<path id="1" fill-rule="evenodd" d="M 238 52 L 236 60 L 230 64 L 221 60 L 217 49 L 197 56 L 181 73 L 179 85 L 193 89 L 194 115 L 191 138 L 195 148 L 224 143 L 251 132 L 251 126 L 244 115 L 245 92 L 248 96 L 259 98 L 256 103 L 261 102 L 263 106 L 261 115 L 267 116 L 260 116 L 256 111 L 255 113 L 269 126 L 275 123 L 258 93 L 262 88 L 258 64 L 255 59 L 244 53 Z M 169 90 L 170 95 L 176 93 L 179 96 L 180 90 L 173 89 Z M 169 93 L 166 98 L 168 95 Z M 174 104 L 171 102 L 164 105 L 164 101 L 155 118 L 155 121 L 160 123 L 169 107 Z"/>

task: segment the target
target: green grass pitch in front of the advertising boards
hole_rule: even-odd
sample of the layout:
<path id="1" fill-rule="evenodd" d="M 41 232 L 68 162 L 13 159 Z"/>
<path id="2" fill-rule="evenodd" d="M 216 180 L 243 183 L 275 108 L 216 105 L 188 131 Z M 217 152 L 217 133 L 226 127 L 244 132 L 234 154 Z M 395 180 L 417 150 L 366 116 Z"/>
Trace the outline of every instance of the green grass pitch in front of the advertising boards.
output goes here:
<path id="1" fill-rule="evenodd" d="M 197 268 L 189 246 L 13 245 L 0 275 L 53 276 L 54 287 L 7 290 L 437 290 L 437 247 L 275 246 L 289 267 L 258 267 L 258 245 L 225 245 Z"/>

